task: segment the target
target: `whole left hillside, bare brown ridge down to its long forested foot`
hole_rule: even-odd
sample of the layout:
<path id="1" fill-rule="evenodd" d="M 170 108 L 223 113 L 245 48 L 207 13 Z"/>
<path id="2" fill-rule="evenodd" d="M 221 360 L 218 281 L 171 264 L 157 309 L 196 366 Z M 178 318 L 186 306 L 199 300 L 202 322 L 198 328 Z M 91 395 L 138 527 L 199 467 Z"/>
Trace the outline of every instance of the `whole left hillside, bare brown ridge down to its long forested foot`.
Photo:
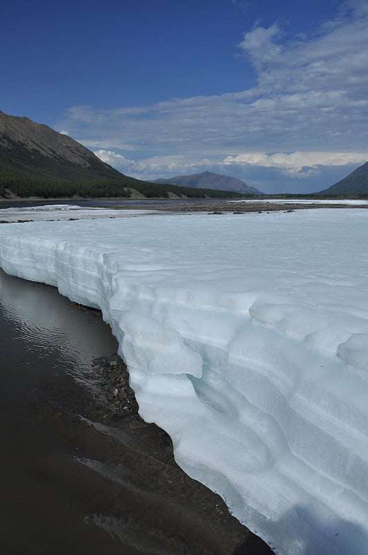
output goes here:
<path id="1" fill-rule="evenodd" d="M 125 176 L 67 135 L 0 111 L 0 196 L 211 198 L 235 193 L 159 185 Z"/>

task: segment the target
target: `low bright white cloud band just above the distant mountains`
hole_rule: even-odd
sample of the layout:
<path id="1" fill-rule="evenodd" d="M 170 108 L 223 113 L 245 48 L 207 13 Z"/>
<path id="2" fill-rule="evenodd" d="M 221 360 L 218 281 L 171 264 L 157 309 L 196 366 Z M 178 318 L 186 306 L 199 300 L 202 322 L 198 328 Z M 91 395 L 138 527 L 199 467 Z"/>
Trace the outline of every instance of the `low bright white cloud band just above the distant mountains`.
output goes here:
<path id="1" fill-rule="evenodd" d="M 154 180 L 213 171 L 245 180 L 265 192 L 319 191 L 367 160 L 367 153 L 241 153 L 226 157 L 152 156 L 130 160 L 114 151 L 95 152 L 100 160 L 134 178 Z M 340 169 L 339 169 L 340 168 Z M 308 180 L 306 179 L 308 178 Z"/>

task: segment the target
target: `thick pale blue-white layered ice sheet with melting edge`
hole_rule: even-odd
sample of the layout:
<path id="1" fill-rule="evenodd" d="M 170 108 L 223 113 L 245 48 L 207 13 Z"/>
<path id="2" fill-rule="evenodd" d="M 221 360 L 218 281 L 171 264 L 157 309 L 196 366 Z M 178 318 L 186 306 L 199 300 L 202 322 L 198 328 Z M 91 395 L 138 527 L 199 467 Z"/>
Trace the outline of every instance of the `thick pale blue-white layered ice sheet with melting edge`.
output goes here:
<path id="1" fill-rule="evenodd" d="M 1 225 L 5 271 L 100 307 L 140 412 L 281 555 L 368 552 L 368 211 Z"/>

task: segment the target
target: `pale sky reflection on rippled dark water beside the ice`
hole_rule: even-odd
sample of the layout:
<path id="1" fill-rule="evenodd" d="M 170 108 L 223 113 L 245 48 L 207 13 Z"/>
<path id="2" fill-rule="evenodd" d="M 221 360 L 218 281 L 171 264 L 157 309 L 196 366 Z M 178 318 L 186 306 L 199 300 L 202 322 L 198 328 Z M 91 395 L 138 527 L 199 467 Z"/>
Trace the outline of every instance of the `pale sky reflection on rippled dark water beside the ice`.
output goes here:
<path id="1" fill-rule="evenodd" d="M 0 270 L 0 339 L 21 339 L 30 352 L 90 367 L 92 359 L 116 351 L 111 329 L 99 314 L 77 309 L 50 286 L 14 278 Z M 6 320 L 12 325 L 6 325 Z"/>

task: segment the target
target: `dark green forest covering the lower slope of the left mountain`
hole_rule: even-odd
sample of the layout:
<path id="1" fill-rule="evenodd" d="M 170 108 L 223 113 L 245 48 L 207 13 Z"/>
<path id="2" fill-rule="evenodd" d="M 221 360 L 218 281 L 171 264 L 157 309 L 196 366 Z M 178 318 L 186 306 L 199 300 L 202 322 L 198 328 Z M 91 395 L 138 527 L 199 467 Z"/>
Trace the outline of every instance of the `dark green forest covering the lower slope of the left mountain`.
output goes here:
<path id="1" fill-rule="evenodd" d="M 131 189 L 147 198 L 168 198 L 169 193 L 188 198 L 240 198 L 233 191 L 194 189 L 141 181 L 116 171 L 91 155 L 89 167 L 82 167 L 55 157 L 28 150 L 23 144 L 6 137 L 7 147 L 0 147 L 0 196 L 21 198 L 38 196 L 60 198 L 122 197 L 130 198 Z"/>

